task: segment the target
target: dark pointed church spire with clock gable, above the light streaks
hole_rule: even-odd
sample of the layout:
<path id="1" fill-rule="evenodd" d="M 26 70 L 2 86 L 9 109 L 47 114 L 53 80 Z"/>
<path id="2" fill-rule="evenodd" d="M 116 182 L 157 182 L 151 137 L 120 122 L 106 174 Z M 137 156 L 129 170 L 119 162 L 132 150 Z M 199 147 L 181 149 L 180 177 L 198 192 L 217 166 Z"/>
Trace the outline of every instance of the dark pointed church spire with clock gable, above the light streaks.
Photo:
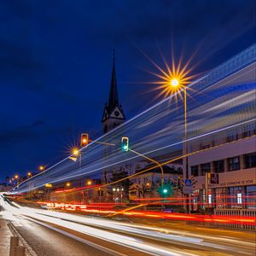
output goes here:
<path id="1" fill-rule="evenodd" d="M 118 125 L 125 122 L 125 113 L 122 105 L 119 104 L 119 95 L 115 74 L 115 57 L 113 51 L 113 67 L 110 84 L 108 103 L 106 102 L 102 116 L 103 133 L 113 130 Z"/>

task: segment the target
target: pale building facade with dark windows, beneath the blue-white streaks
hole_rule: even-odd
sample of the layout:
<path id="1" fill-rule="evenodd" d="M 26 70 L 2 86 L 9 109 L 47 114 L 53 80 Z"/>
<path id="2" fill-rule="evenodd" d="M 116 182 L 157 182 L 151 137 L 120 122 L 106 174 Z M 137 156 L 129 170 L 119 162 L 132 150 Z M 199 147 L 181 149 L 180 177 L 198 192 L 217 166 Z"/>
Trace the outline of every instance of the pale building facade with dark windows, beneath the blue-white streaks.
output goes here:
<path id="1" fill-rule="evenodd" d="M 189 144 L 189 175 L 195 177 L 192 206 L 256 209 L 256 125 Z M 217 174 L 211 180 L 209 173 Z M 212 176 L 214 177 L 214 175 Z"/>

